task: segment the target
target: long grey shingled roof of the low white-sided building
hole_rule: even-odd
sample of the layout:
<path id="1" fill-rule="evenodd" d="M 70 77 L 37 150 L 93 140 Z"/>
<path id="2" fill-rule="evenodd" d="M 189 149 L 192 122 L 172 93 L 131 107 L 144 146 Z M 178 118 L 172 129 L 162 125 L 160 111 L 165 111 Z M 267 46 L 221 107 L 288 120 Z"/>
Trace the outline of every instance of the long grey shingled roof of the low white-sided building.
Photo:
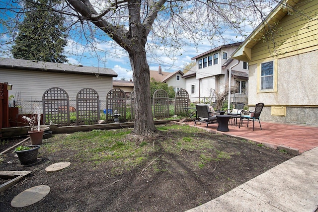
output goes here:
<path id="1" fill-rule="evenodd" d="M 84 67 L 70 64 L 50 63 L 42 61 L 30 61 L 12 58 L 0 58 L 0 69 L 14 69 L 27 71 L 42 71 L 55 73 L 71 73 L 81 75 L 98 75 L 117 77 L 117 73 L 112 69 L 98 67 Z"/>

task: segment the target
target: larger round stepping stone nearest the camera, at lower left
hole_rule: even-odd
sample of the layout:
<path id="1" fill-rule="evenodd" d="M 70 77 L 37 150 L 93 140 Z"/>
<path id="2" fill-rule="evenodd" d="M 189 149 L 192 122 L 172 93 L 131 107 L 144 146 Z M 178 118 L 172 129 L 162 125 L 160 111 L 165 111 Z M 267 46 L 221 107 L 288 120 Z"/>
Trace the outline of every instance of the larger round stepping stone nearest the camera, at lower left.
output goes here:
<path id="1" fill-rule="evenodd" d="M 30 206 L 42 200 L 46 195 L 49 194 L 50 190 L 50 187 L 45 185 L 34 186 L 24 190 L 13 198 L 11 201 L 11 206 L 14 208 Z"/>

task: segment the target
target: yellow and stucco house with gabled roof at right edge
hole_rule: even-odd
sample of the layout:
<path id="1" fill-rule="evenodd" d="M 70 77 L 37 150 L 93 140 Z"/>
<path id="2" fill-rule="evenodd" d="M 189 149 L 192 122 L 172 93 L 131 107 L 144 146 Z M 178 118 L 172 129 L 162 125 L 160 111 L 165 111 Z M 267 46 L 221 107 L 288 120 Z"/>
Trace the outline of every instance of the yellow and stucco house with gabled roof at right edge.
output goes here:
<path id="1" fill-rule="evenodd" d="M 318 125 L 318 0 L 282 0 L 233 55 L 262 120 Z"/>

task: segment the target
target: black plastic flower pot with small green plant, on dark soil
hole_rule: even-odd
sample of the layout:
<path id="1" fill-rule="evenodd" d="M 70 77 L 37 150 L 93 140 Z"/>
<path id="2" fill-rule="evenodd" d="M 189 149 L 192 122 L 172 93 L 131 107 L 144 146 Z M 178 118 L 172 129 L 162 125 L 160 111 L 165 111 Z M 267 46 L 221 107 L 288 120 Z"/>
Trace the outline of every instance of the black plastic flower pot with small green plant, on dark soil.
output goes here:
<path id="1" fill-rule="evenodd" d="M 30 165 L 36 162 L 40 145 L 18 146 L 14 149 L 21 165 Z"/>

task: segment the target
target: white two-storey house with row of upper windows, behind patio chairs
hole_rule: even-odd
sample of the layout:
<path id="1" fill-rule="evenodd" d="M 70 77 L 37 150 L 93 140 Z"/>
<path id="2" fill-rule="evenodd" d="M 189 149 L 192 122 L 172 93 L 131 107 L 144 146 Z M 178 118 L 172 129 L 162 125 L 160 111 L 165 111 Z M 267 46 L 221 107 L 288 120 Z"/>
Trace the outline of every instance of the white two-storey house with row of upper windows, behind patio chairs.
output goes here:
<path id="1" fill-rule="evenodd" d="M 183 75 L 183 78 L 187 79 L 186 89 L 192 98 L 215 101 L 216 94 L 225 91 L 229 85 L 229 70 L 237 64 L 236 60 L 231 59 L 231 55 L 240 44 L 242 42 L 219 46 L 192 58 L 196 60 L 196 66 Z M 231 86 L 238 88 L 238 91 L 231 95 L 232 102 L 239 102 L 241 98 L 247 97 L 247 82 L 248 64 L 239 62 L 232 69 Z"/>

